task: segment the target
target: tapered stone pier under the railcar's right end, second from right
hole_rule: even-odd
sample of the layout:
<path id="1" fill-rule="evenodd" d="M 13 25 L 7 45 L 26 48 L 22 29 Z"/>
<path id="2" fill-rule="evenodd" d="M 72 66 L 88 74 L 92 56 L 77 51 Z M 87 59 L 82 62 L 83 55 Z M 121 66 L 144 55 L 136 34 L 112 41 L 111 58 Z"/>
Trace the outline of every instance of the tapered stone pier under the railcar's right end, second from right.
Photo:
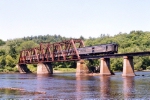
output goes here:
<path id="1" fill-rule="evenodd" d="M 111 75 L 110 58 L 101 58 L 100 75 Z"/>

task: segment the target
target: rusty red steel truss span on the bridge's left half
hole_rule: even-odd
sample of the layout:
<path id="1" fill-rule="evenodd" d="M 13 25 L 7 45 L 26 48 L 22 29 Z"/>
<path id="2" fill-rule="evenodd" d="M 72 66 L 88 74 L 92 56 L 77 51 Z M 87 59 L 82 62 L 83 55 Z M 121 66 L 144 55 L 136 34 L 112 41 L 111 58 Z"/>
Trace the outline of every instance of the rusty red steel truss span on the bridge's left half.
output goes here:
<path id="1" fill-rule="evenodd" d="M 77 48 L 82 47 L 84 47 L 84 43 L 80 39 L 71 39 L 53 44 L 41 43 L 40 47 L 22 50 L 19 64 L 80 60 Z"/>

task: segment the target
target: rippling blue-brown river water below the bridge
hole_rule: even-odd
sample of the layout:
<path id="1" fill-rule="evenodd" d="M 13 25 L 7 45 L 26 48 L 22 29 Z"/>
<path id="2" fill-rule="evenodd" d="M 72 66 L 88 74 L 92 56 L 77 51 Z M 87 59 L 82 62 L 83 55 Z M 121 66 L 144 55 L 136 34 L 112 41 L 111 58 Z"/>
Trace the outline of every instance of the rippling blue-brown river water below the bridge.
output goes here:
<path id="1" fill-rule="evenodd" d="M 108 100 L 150 99 L 150 72 L 135 72 L 135 77 L 75 73 L 0 74 L 0 99 Z"/>

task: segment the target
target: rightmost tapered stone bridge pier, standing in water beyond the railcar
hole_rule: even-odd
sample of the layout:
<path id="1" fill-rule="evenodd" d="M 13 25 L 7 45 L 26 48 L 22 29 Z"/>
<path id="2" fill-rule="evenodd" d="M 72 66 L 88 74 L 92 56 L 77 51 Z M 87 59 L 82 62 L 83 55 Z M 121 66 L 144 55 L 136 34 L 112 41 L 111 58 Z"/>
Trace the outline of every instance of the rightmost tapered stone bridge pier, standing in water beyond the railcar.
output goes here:
<path id="1" fill-rule="evenodd" d="M 123 57 L 123 74 L 122 76 L 135 76 L 133 57 L 124 56 Z"/>

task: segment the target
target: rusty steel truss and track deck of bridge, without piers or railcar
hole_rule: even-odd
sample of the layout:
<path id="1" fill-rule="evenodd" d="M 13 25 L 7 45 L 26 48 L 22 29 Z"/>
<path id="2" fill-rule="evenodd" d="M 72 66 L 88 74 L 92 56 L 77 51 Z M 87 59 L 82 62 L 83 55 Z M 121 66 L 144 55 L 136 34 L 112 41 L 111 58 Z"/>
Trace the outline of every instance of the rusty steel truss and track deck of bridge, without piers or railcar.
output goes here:
<path id="1" fill-rule="evenodd" d="M 116 58 L 123 56 L 148 56 L 150 52 L 134 52 L 123 54 L 90 54 L 80 55 L 78 48 L 85 47 L 80 39 L 71 39 L 57 43 L 40 43 L 39 47 L 22 50 L 19 64 L 45 62 L 75 61 L 80 59 Z"/>

